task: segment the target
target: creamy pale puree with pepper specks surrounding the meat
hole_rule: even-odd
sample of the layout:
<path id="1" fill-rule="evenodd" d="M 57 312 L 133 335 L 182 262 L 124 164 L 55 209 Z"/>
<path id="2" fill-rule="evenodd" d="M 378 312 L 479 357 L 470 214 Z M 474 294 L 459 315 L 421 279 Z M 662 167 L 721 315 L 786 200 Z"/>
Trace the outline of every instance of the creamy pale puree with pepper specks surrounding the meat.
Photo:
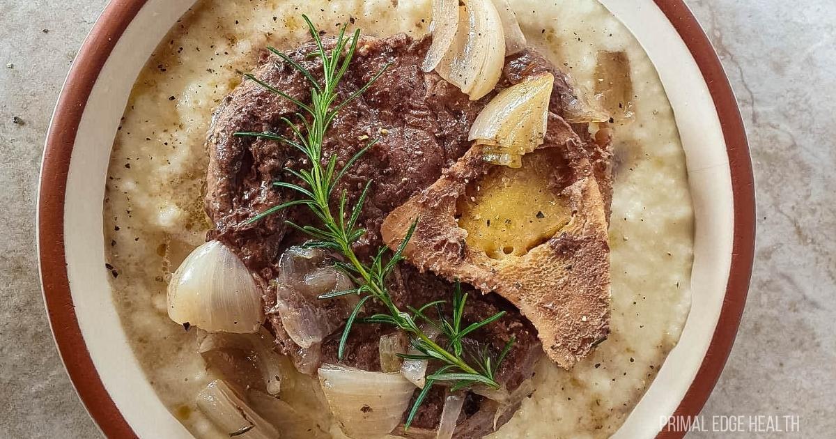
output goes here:
<path id="1" fill-rule="evenodd" d="M 512 3 L 529 42 L 589 88 L 599 50 L 626 52 L 635 121 L 616 126 L 614 139 L 612 334 L 571 371 L 541 362 L 538 391 L 493 436 L 605 437 L 650 385 L 690 307 L 693 215 L 685 156 L 653 65 L 607 10 L 595 0 Z M 301 13 L 323 29 L 350 15 L 365 33 L 419 37 L 429 7 L 430 0 L 204 0 L 140 75 L 111 158 L 104 202 L 108 262 L 119 274 L 115 301 L 148 379 L 196 436 L 228 432 L 194 409 L 196 392 L 211 377 L 196 353 L 195 331 L 186 333 L 166 316 L 166 280 L 208 227 L 201 191 L 212 110 L 239 83 L 236 70 L 252 68 L 258 50 L 307 38 Z"/>

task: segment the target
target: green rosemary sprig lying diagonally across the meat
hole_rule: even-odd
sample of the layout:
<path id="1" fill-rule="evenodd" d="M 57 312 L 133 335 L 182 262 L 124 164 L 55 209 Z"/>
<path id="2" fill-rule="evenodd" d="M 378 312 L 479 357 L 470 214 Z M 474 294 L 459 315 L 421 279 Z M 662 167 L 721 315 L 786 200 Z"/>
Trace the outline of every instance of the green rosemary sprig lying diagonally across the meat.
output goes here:
<path id="1" fill-rule="evenodd" d="M 314 23 L 311 23 L 307 16 L 303 15 L 302 17 L 308 23 L 311 37 L 314 38 L 317 46 L 317 51 L 312 55 L 322 60 L 323 79 L 319 81 L 311 71 L 305 69 L 301 64 L 293 61 L 293 59 L 290 59 L 286 54 L 282 54 L 277 49 L 269 48 L 269 50 L 288 62 L 288 64 L 291 64 L 294 69 L 297 69 L 308 80 L 311 84 L 311 104 L 306 104 L 284 93 L 282 90 L 276 89 L 261 79 L 257 79 L 252 74 L 246 74 L 248 79 L 252 79 L 257 84 L 290 100 L 298 106 L 299 112 L 297 113 L 297 117 L 298 124 L 300 125 L 294 124 L 288 118 L 283 118 L 283 122 L 293 132 L 293 138 L 272 132 L 237 132 L 235 135 L 283 142 L 302 151 L 303 155 L 310 160 L 311 167 L 309 170 L 298 171 L 287 168 L 290 174 L 303 182 L 303 185 L 286 181 L 276 181 L 273 183 L 274 186 L 296 191 L 301 196 L 300 199 L 271 207 L 256 217 L 252 217 L 249 222 L 256 222 L 274 212 L 300 205 L 307 206 L 314 213 L 314 216 L 319 219 L 319 222 L 321 222 L 319 227 L 312 225 L 302 226 L 294 222 L 287 222 L 287 224 L 313 237 L 312 241 L 305 244 L 306 246 L 311 248 L 326 248 L 341 254 L 345 262 L 337 262 L 335 266 L 346 273 L 354 281 L 354 285 L 356 285 L 356 288 L 323 294 L 319 298 L 333 299 L 347 294 L 357 294 L 360 297 L 359 303 L 354 307 L 349 315 L 349 319 L 345 323 L 342 337 L 339 340 L 338 357 L 340 360 L 343 358 L 346 340 L 349 337 L 352 326 L 357 321 L 363 321 L 368 323 L 390 324 L 409 334 L 411 345 L 421 354 L 401 355 L 403 358 L 441 362 L 440 368 L 431 375 L 426 376 L 426 385 L 421 390 L 421 393 L 415 401 L 415 405 L 407 416 L 405 424 L 409 428 L 415 413 L 419 406 L 421 406 L 421 402 L 424 401 L 431 386 L 438 381 L 449 382 L 451 388 L 454 390 L 465 389 L 476 383 L 498 388 L 499 384 L 495 379 L 495 374 L 498 366 L 511 349 L 514 340 L 511 339 L 507 343 L 502 353 L 495 360 L 487 346 L 482 350 L 468 354 L 462 345 L 465 337 L 468 334 L 472 334 L 473 331 L 487 324 L 491 324 L 497 319 L 501 319 L 505 312 L 499 312 L 488 319 L 462 328 L 462 318 L 467 295 L 461 294 L 461 287 L 458 284 L 456 284 L 456 291 L 453 295 L 451 319 L 446 317 L 443 309 L 446 301 L 443 300 L 425 304 L 418 309 L 406 307 L 408 312 L 399 309 L 395 305 L 385 286 L 385 279 L 392 273 L 397 264 L 404 260 L 403 253 L 406 248 L 406 243 L 410 241 L 413 232 L 415 232 L 417 219 L 412 223 L 404 240 L 400 242 L 400 246 L 395 250 L 395 253 L 392 253 L 388 258 L 388 248 L 385 247 L 379 249 L 370 263 L 361 262 L 354 253 L 352 244 L 357 242 L 359 237 L 362 237 L 365 233 L 364 228 L 359 227 L 357 222 L 365 199 L 369 194 L 372 181 L 366 184 L 364 190 L 360 193 L 350 210 L 348 208 L 348 194 L 346 191 L 342 191 L 339 193 L 339 197 L 335 198 L 335 208 L 332 208 L 331 202 L 334 201 L 334 191 L 337 183 L 345 175 L 346 171 L 354 165 L 354 162 L 359 160 L 366 151 L 369 151 L 376 140 L 372 140 L 365 145 L 339 171 L 337 170 L 336 155 L 332 155 L 326 161 L 323 161 L 322 145 L 325 132 L 329 129 L 331 122 L 339 110 L 344 108 L 345 105 L 348 105 L 352 100 L 358 98 L 360 94 L 363 94 L 371 84 L 374 84 L 380 78 L 380 75 L 389 66 L 386 65 L 368 83 L 364 84 L 363 87 L 350 94 L 348 98 L 338 104 L 336 102 L 337 86 L 345 72 L 349 69 L 351 59 L 354 57 L 354 51 L 357 48 L 359 40 L 359 29 L 354 32 L 353 36 L 347 38 L 345 35 L 346 26 L 343 26 L 334 43 L 334 47 L 329 51 L 325 48 L 322 39 L 319 37 L 319 31 L 314 26 Z M 383 305 L 386 313 L 374 314 L 363 319 L 358 319 L 363 305 L 370 300 L 375 300 L 378 304 Z M 427 310 L 433 308 L 436 309 L 438 319 L 431 319 L 426 314 Z M 421 325 L 418 323 L 419 321 L 423 321 L 424 324 L 430 324 L 439 329 L 441 334 L 445 336 L 446 342 L 436 341 L 427 335 L 421 329 Z M 466 359 L 466 356 L 471 358 Z"/>

